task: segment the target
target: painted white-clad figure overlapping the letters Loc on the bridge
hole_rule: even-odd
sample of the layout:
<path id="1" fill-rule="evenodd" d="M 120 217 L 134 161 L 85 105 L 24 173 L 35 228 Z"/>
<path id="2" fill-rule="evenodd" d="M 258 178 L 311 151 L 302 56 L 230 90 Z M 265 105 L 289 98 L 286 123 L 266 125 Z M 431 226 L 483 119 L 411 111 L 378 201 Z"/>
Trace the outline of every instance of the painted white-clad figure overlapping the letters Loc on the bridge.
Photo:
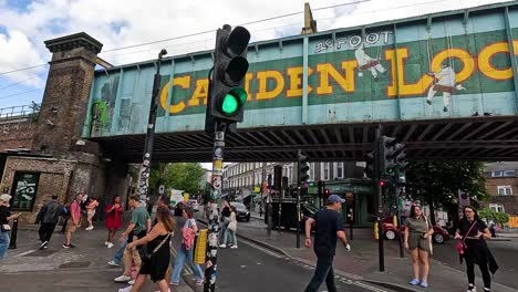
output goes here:
<path id="1" fill-rule="evenodd" d="M 443 92 L 443 112 L 448 112 L 452 93 L 454 93 L 455 90 L 460 91 L 466 88 L 463 86 L 463 84 L 455 84 L 455 70 L 453 70 L 453 67 L 447 63 L 441 64 L 441 72 L 431 72 L 428 75 L 435 79 L 435 83 L 432 84 L 428 90 L 428 97 L 426 98 L 426 103 L 432 105 L 432 98 L 434 98 L 435 94 L 437 92 Z"/>

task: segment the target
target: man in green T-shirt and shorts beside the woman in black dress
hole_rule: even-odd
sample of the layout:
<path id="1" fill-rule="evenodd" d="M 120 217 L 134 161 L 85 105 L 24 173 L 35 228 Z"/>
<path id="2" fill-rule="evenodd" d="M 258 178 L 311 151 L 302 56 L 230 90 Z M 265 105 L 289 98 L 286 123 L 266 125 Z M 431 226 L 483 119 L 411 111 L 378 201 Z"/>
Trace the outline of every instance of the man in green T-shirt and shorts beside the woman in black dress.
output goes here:
<path id="1" fill-rule="evenodd" d="M 128 200 L 130 207 L 134 208 L 132 212 L 132 220 L 127 226 L 126 230 L 122 233 L 120 241 L 124 243 L 127 240 L 127 244 L 136 241 L 147 234 L 151 230 L 151 217 L 147 212 L 146 207 L 144 207 L 141 202 L 141 198 L 138 195 L 130 196 Z M 138 271 L 141 270 L 141 255 L 135 247 L 124 250 L 124 273 L 114 279 L 115 282 L 128 282 L 133 284 L 132 280 L 132 259 L 135 263 L 135 269 Z"/>

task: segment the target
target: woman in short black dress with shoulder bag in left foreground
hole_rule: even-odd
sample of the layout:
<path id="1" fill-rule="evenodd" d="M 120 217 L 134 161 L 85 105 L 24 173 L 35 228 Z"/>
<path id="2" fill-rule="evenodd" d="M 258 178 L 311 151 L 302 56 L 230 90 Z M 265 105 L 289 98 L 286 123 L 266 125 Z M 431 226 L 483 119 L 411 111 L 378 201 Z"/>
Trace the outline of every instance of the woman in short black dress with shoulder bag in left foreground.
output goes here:
<path id="1" fill-rule="evenodd" d="M 173 236 L 176 223 L 167 206 L 160 206 L 156 209 L 156 219 L 157 223 L 147 236 L 127 244 L 126 249 L 145 246 L 151 257 L 148 259 L 143 259 L 142 268 L 138 271 L 133 288 L 120 289 L 120 292 L 137 292 L 146 281 L 147 275 L 151 277 L 153 282 L 158 282 L 160 292 L 167 292 L 169 290 L 169 285 L 166 281 L 166 271 L 169 267 L 170 257 L 169 239 Z"/>

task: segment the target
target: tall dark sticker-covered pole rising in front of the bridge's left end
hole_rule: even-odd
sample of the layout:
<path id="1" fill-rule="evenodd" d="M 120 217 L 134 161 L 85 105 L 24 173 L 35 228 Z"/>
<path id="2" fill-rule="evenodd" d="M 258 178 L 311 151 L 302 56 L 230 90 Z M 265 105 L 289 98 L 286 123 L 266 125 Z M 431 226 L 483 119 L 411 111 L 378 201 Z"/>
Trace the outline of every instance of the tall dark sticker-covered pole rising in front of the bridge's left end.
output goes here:
<path id="1" fill-rule="evenodd" d="M 138 195 L 141 201 L 147 201 L 148 186 L 149 186 L 149 171 L 153 153 L 153 143 L 155 140 L 155 123 L 156 123 L 156 102 L 158 100 L 158 92 L 160 90 L 160 63 L 162 58 L 167 54 L 165 49 L 158 53 L 158 62 L 156 65 L 156 74 L 153 80 L 153 92 L 149 105 L 149 118 L 147 121 L 146 142 L 144 145 L 144 157 L 142 159 L 141 170 L 138 173 Z"/>

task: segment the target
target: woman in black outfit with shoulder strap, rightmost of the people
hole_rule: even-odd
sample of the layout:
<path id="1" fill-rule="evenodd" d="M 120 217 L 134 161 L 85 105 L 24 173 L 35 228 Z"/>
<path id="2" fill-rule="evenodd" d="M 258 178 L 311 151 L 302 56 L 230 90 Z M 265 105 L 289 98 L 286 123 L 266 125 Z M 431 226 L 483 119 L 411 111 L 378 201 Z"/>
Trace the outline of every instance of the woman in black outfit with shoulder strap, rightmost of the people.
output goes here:
<path id="1" fill-rule="evenodd" d="M 498 264 L 493 257 L 485 239 L 490 239 L 491 233 L 486 223 L 478 218 L 475 208 L 466 206 L 463 208 L 463 219 L 458 221 L 455 239 L 462 240 L 463 250 L 460 252 L 460 263 L 466 260 L 466 273 L 468 278 L 468 292 L 476 291 L 475 288 L 475 263 L 480 269 L 484 280 L 484 291 L 491 289 L 491 277 L 495 274 Z"/>

